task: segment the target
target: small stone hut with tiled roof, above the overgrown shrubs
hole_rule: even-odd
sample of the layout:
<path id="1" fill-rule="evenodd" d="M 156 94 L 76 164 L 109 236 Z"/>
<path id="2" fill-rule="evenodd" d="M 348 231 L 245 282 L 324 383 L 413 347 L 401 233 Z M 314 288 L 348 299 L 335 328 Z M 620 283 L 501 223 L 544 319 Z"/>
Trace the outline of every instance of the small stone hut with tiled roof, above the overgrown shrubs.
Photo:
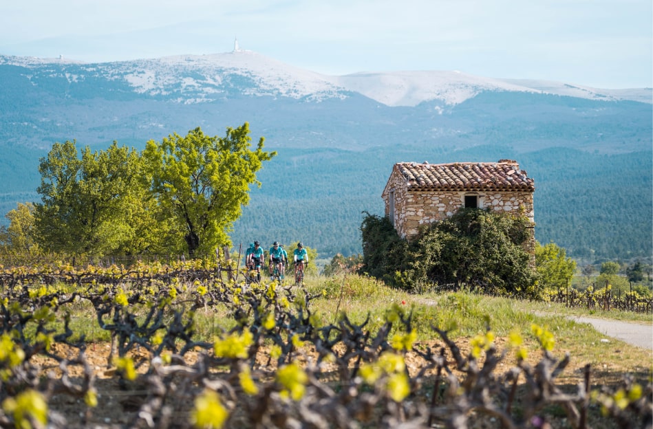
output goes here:
<path id="1" fill-rule="evenodd" d="M 499 162 L 418 164 L 399 162 L 383 190 L 385 215 L 401 237 L 411 239 L 420 226 L 450 217 L 461 207 L 533 218 L 533 179 L 511 159 Z M 535 243 L 533 231 L 531 248 Z"/>

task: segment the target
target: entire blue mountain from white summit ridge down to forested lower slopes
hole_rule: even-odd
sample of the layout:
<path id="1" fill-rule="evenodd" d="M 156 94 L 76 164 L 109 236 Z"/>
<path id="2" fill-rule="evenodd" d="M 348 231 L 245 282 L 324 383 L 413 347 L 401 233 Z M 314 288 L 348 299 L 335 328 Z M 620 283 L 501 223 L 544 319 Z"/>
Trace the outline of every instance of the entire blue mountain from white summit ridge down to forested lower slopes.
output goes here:
<path id="1" fill-rule="evenodd" d="M 279 156 L 261 171 L 263 186 L 235 225 L 235 242 L 303 239 L 323 256 L 359 252 L 361 211 L 382 210 L 381 190 L 395 162 L 509 157 L 535 178 L 539 241 L 588 259 L 650 256 L 652 104 L 651 88 L 436 71 L 325 76 L 240 50 L 92 64 L 0 56 L 0 210 L 37 198 L 38 159 L 54 142 L 104 148 L 116 140 L 143 148 L 197 126 L 224 135 L 227 126 L 249 122 L 253 139 L 266 137 L 266 148 Z M 614 170 L 622 165 L 630 171 Z M 622 186 L 630 175 L 635 183 Z M 563 190 L 576 193 L 554 195 L 565 178 Z M 606 201 L 610 213 L 599 215 L 588 207 L 593 203 L 572 201 L 592 201 L 606 180 L 614 186 L 595 199 L 636 192 L 636 202 Z M 564 219 L 561 207 L 570 209 Z M 306 225 L 279 225 L 256 221 L 266 219 L 261 210 L 318 214 Z M 587 234 L 560 232 L 588 225 Z M 606 238 L 615 231 L 623 245 Z M 628 245 L 633 236 L 640 238 Z"/>

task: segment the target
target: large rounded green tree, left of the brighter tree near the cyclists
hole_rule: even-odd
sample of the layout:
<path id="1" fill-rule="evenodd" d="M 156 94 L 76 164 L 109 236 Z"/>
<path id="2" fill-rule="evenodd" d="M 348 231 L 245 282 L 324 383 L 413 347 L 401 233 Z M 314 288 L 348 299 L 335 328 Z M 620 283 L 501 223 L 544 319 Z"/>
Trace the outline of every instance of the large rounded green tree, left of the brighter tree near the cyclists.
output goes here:
<path id="1" fill-rule="evenodd" d="M 141 228 L 151 204 L 144 199 L 137 151 L 116 142 L 106 151 L 55 143 L 39 173 L 34 226 L 45 250 L 101 256 L 147 248 L 134 247 L 137 237 L 151 235 Z"/>

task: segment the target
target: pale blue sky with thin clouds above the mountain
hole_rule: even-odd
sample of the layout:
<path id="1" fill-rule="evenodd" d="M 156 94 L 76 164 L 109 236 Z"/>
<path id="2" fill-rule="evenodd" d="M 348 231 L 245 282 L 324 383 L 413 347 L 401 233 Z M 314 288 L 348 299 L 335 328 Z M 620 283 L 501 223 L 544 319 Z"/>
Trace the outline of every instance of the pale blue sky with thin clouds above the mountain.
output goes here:
<path id="1" fill-rule="evenodd" d="M 0 54 L 87 63 L 242 50 L 329 75 L 458 70 L 653 87 L 651 0 L 19 0 Z"/>

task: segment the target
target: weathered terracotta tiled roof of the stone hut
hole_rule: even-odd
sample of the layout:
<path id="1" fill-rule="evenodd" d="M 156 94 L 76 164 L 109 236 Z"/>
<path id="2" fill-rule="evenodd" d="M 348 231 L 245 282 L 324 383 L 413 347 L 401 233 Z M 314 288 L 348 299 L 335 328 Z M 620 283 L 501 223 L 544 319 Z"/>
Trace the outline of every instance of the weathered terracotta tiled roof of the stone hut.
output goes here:
<path id="1" fill-rule="evenodd" d="M 453 164 L 399 162 L 395 168 L 405 177 L 409 190 L 535 190 L 533 179 L 510 159 Z"/>

